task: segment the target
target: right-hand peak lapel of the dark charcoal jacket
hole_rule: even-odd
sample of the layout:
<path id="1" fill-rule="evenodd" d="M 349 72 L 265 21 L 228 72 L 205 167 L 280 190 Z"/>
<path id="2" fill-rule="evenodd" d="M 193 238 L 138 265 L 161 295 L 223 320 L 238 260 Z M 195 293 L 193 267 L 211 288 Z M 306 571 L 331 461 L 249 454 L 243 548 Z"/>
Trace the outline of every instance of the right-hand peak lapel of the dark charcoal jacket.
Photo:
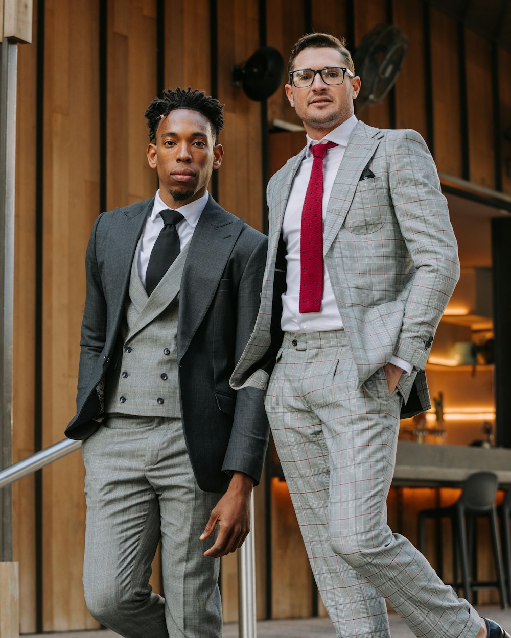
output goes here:
<path id="1" fill-rule="evenodd" d="M 236 219 L 211 197 L 202 211 L 181 278 L 178 320 L 178 360 L 187 352 L 218 288 L 229 255 L 245 219 Z"/>

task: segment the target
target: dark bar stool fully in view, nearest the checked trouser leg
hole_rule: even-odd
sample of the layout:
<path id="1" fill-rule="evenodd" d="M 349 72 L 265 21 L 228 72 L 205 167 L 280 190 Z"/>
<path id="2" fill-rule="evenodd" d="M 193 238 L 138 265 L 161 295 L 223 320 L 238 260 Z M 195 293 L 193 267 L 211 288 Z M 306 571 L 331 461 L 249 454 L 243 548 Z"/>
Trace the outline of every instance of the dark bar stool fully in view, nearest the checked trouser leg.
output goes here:
<path id="1" fill-rule="evenodd" d="M 497 587 L 500 595 L 500 606 L 505 609 L 505 579 L 498 538 L 497 513 L 495 496 L 497 493 L 497 477 L 492 472 L 475 472 L 463 483 L 459 499 L 448 507 L 436 507 L 418 513 L 418 549 L 424 551 L 424 530 L 427 518 L 451 519 L 452 524 L 452 557 L 454 579 L 458 579 L 458 560 L 461 563 L 462 587 L 465 597 L 472 602 L 472 586 L 469 566 L 469 547 L 473 545 L 475 519 L 485 516 L 490 521 L 490 534 L 497 573 Z M 508 519 L 509 521 L 509 519 Z M 456 582 L 456 584 L 458 584 Z"/>

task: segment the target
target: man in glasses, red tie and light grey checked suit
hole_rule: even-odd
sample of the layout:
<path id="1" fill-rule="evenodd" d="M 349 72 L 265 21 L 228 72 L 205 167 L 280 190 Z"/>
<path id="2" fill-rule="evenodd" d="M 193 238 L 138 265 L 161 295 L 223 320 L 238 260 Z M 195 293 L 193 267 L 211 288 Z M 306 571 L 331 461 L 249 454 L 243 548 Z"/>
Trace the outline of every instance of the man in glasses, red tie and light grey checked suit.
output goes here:
<path id="1" fill-rule="evenodd" d="M 509 638 L 386 524 L 400 413 L 430 407 L 424 366 L 459 277 L 436 167 L 415 131 L 357 121 L 344 41 L 303 36 L 288 70 L 307 147 L 268 184 L 261 308 L 231 384 L 266 390 L 339 638 L 388 637 L 385 599 L 417 636 Z"/>

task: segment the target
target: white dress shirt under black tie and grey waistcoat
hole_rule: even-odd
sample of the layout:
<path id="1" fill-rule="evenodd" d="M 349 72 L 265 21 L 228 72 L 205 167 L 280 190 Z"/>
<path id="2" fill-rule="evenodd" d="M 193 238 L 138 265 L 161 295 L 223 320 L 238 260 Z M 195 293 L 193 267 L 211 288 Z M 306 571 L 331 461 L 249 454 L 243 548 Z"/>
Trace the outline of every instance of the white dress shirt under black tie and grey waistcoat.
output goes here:
<path id="1" fill-rule="evenodd" d="M 183 250 L 184 246 L 192 239 L 192 235 L 194 234 L 195 226 L 197 226 L 197 222 L 199 221 L 199 217 L 201 216 L 204 207 L 208 203 L 208 199 L 210 198 L 210 193 L 206 192 L 206 195 L 202 195 L 201 198 L 195 200 L 194 202 L 190 202 L 190 204 L 185 204 L 184 206 L 180 206 L 179 208 L 173 208 L 173 211 L 179 211 L 181 215 L 185 219 L 181 219 L 181 221 L 176 224 L 176 230 L 178 231 L 179 236 L 179 244 L 181 246 L 181 250 Z M 146 223 L 144 225 L 144 230 L 142 230 L 142 241 L 140 244 L 140 252 L 139 252 L 139 277 L 142 282 L 142 286 L 146 285 L 146 271 L 148 269 L 149 257 L 151 256 L 151 250 L 155 245 L 156 239 L 158 239 L 158 235 L 160 234 L 160 230 L 164 227 L 164 220 L 160 215 L 160 211 L 167 211 L 169 207 L 164 203 L 162 198 L 160 197 L 160 191 L 156 191 L 155 203 L 153 204 L 153 210 L 151 214 L 146 219 Z"/>

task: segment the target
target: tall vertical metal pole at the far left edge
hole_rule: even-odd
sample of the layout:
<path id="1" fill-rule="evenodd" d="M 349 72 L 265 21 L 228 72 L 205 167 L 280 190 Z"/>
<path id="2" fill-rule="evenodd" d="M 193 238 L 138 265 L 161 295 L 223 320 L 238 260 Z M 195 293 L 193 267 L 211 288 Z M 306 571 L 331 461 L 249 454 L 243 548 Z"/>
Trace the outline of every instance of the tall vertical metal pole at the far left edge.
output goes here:
<path id="1" fill-rule="evenodd" d="M 0 44 L 0 470 L 12 459 L 14 189 L 18 47 Z M 12 561 L 12 496 L 0 493 L 0 561 Z"/>

